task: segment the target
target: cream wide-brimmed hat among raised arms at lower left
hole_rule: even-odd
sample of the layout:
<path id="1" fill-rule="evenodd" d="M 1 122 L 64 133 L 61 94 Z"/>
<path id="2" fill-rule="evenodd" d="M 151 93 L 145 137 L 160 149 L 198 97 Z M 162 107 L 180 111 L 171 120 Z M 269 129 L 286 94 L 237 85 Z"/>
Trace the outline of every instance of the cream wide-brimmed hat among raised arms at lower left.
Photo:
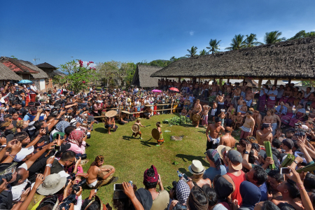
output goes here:
<path id="1" fill-rule="evenodd" d="M 59 174 L 50 174 L 46 176 L 43 183 L 37 188 L 37 193 L 41 195 L 52 195 L 61 190 L 66 184 L 66 177 Z"/>

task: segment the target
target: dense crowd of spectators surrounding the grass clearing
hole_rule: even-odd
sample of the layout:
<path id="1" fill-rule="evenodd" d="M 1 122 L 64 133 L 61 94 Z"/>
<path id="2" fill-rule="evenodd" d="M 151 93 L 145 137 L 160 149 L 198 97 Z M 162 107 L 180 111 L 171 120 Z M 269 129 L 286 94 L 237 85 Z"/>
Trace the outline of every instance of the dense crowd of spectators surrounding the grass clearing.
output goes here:
<path id="1" fill-rule="evenodd" d="M 246 83 L 241 87 L 230 83 L 220 87 L 216 83 L 201 86 L 195 82 L 179 84 L 160 80 L 159 86 L 162 92 L 138 87 L 97 92 L 92 87 L 89 92 L 55 88 L 46 93 L 39 92 L 34 84 L 7 83 L 1 88 L 0 96 L 0 209 L 27 209 L 34 203 L 34 197 L 40 195 L 32 209 L 112 209 L 110 204 L 102 203 L 97 189 L 118 181 L 118 176 L 114 176 L 115 167 L 104 164 L 102 155 L 97 155 L 87 173 L 81 165 L 87 157 L 93 125 L 104 122 L 110 127 L 110 133 L 111 129 L 113 132 L 118 129 L 116 121 L 124 126 L 139 116 L 151 118 L 171 113 L 161 111 L 159 106 L 171 107 L 184 116 L 193 114 L 190 111 L 193 107 L 202 107 L 198 113 L 202 120 L 211 113 L 213 122 L 207 118 L 205 126 L 205 157 L 191 162 L 188 171 L 192 176 L 178 172 L 179 179 L 172 183 L 169 192 L 162 184 L 163 176 L 168 174 L 159 174 L 154 165 L 144 170 L 143 188 L 137 188 L 141 183 L 122 181 L 121 189 L 113 192 L 113 208 L 314 209 L 314 172 L 297 173 L 297 169 L 314 165 L 313 120 L 296 118 L 300 109 L 308 109 L 311 94 L 307 97 L 303 93 L 296 102 L 296 97 L 294 101 L 290 99 L 293 94 L 283 92 L 284 101 L 281 96 L 276 106 L 270 100 L 279 92 L 272 87 L 269 93 L 264 86 L 254 106 L 255 92 Z M 169 92 L 169 86 L 178 87 L 179 92 Z M 211 108 L 207 104 L 199 106 L 199 100 L 195 100 L 195 97 L 207 99 L 209 96 L 214 96 Z M 281 121 L 287 114 L 283 107 L 288 103 L 297 105 L 293 116 L 297 120 L 290 126 L 290 118 L 290 128 L 282 132 Z M 105 118 L 111 110 L 125 112 Z M 97 116 L 100 118 L 94 118 Z M 237 127 L 241 128 L 241 138 L 235 144 L 231 134 Z M 272 146 L 270 157 L 264 141 Z M 281 164 L 292 155 L 295 160 L 287 166 L 290 172 L 285 174 Z M 204 165 L 208 163 L 206 169 Z M 81 195 L 83 188 L 91 189 L 85 199 Z"/>

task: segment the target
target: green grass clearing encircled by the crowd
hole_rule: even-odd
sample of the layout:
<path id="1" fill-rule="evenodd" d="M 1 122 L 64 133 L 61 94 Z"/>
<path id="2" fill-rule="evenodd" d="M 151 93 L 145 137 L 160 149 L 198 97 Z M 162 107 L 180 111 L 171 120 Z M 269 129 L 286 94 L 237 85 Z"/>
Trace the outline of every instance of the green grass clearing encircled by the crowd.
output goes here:
<path id="1" fill-rule="evenodd" d="M 144 187 L 144 171 L 155 165 L 161 176 L 164 187 L 172 186 L 172 181 L 178 180 L 177 170 L 190 175 L 188 166 L 192 160 L 200 160 L 204 167 L 208 168 L 209 163 L 204 160 L 207 137 L 204 127 L 195 128 L 193 125 L 162 124 L 164 144 L 155 146 L 156 141 L 151 136 L 151 130 L 155 128 L 155 123 L 174 115 L 153 116 L 150 120 L 142 119 L 141 127 L 142 139 L 132 139 L 132 125 L 118 125 L 116 132 L 107 134 L 103 123 L 94 124 L 94 131 L 91 138 L 87 139 L 90 148 L 86 149 L 87 159 L 90 160 L 83 165 L 84 172 L 90 167 L 97 155 L 104 155 L 104 165 L 113 165 L 116 168 L 114 176 L 118 176 L 118 182 L 133 181 L 138 188 Z M 150 126 L 148 126 L 150 125 Z M 169 130 L 170 132 L 165 132 Z M 171 136 L 184 136 L 183 141 L 171 141 Z M 138 136 L 139 137 L 139 136 Z M 178 165 L 172 163 L 179 162 Z M 83 199 L 87 197 L 90 190 L 83 190 Z M 113 183 L 99 188 L 97 195 L 104 203 L 111 204 L 113 197 Z"/>

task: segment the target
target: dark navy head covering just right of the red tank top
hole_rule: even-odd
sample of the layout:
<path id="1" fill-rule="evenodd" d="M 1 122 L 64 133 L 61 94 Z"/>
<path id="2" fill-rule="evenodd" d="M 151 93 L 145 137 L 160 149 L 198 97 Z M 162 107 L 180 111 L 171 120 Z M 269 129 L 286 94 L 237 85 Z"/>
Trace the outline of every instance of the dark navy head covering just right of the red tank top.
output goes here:
<path id="1" fill-rule="evenodd" d="M 260 189 L 249 181 L 243 181 L 241 183 L 241 186 L 239 186 L 239 192 L 241 193 L 241 199 L 243 200 L 241 207 L 253 210 L 255 204 L 260 202 Z"/>

